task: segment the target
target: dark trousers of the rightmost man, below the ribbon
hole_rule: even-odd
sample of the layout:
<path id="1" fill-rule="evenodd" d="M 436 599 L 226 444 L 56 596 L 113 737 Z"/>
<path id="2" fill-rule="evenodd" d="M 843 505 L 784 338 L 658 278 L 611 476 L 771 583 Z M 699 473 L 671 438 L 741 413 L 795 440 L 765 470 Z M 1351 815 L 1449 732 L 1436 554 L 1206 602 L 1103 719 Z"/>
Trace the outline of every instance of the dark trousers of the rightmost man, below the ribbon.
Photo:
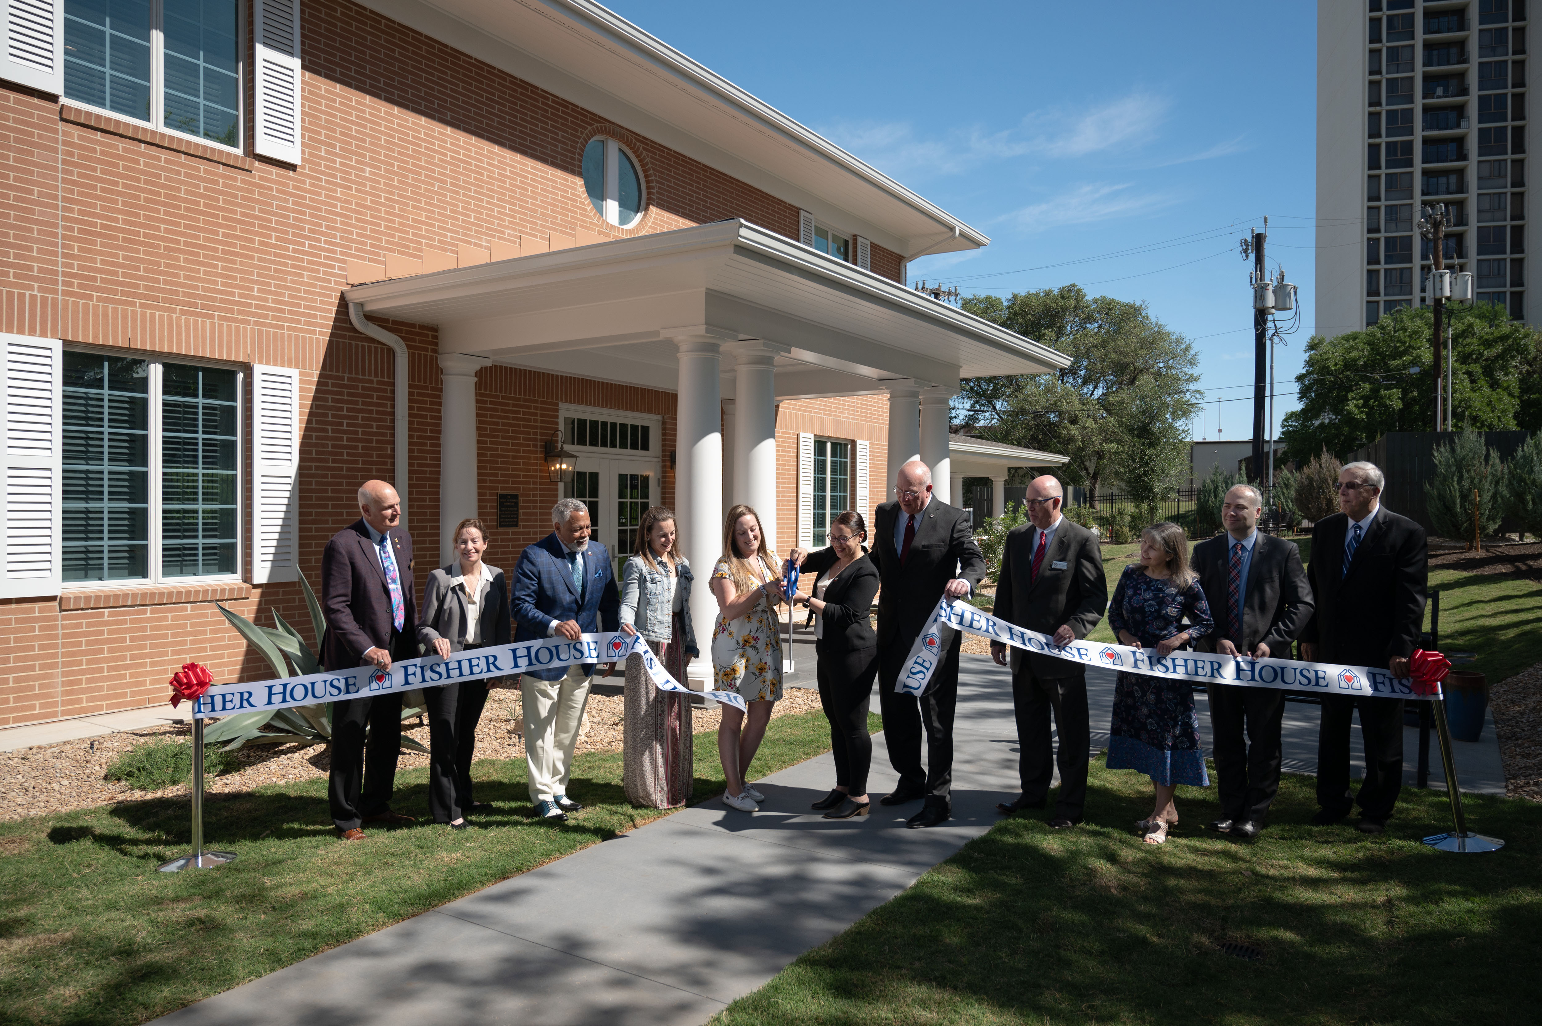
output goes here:
<path id="1" fill-rule="evenodd" d="M 1360 795 L 1349 795 L 1349 722 L 1360 708 L 1360 739 L 1365 742 L 1365 779 Z M 1354 801 L 1360 815 L 1386 819 L 1403 790 L 1403 699 L 1323 696 L 1323 721 L 1317 731 L 1317 804 L 1325 812 L 1349 815 Z"/>

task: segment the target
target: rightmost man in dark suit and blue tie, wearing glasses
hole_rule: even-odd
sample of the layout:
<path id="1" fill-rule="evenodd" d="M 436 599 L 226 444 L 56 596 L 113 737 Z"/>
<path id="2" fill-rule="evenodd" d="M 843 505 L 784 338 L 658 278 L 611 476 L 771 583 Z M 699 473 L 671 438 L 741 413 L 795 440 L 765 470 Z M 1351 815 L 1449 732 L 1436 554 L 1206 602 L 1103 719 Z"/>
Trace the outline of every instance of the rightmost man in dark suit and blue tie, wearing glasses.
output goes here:
<path id="1" fill-rule="evenodd" d="M 1317 611 L 1301 631 L 1301 659 L 1351 667 L 1386 667 L 1408 676 L 1409 656 L 1425 623 L 1429 580 L 1425 529 L 1380 503 L 1385 478 L 1374 463 L 1338 472 L 1338 509 L 1312 526 L 1312 583 Z M 1349 793 L 1349 722 L 1360 710 L 1365 778 Z M 1338 822 L 1360 802 L 1360 830 L 1382 833 L 1403 788 L 1403 700 L 1369 694 L 1325 694 L 1317 733 L 1315 825 Z"/>

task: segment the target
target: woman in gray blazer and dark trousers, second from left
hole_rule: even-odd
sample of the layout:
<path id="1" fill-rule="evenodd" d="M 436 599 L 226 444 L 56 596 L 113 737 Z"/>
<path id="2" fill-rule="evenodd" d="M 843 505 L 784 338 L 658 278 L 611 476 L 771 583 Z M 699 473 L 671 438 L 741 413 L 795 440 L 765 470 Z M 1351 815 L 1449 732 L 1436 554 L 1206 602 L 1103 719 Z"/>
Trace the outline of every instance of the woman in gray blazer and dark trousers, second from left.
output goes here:
<path id="1" fill-rule="evenodd" d="M 501 569 L 483 562 L 486 551 L 483 521 L 461 520 L 455 526 L 455 562 L 429 574 L 418 642 L 441 659 L 509 643 L 509 585 Z M 435 822 L 456 830 L 470 825 L 466 813 L 490 808 L 472 799 L 472 753 L 492 683 L 467 680 L 423 691 L 429 707 L 429 810 Z"/>

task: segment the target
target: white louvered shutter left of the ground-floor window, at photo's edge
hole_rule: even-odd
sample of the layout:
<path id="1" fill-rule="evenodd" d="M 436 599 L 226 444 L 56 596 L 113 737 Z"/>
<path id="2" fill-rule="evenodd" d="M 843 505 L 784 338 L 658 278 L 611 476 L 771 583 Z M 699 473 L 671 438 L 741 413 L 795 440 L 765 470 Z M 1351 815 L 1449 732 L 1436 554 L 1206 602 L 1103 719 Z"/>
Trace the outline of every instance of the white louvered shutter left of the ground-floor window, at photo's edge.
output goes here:
<path id="1" fill-rule="evenodd" d="M 0 335 L 0 599 L 59 594 L 57 338 Z"/>

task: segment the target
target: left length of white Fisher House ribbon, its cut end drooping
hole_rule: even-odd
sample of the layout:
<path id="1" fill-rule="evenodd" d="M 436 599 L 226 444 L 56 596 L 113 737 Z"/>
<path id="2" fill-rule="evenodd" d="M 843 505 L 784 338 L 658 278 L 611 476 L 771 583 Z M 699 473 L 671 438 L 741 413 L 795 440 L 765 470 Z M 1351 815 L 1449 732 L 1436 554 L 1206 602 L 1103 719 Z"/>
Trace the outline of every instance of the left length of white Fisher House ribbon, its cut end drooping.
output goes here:
<path id="1" fill-rule="evenodd" d="M 355 667 L 332 673 L 315 673 L 305 677 L 282 680 L 258 680 L 256 683 L 227 683 L 210 688 L 193 704 L 194 719 L 211 716 L 234 716 L 259 710 L 293 708 L 319 702 L 345 699 L 413 688 L 441 688 L 461 680 L 486 680 L 506 677 L 527 670 L 574 667 L 601 662 L 625 662 L 628 656 L 641 656 L 643 670 L 654 679 L 660 691 L 692 694 L 689 688 L 669 676 L 641 634 L 584 634 L 577 642 L 564 637 L 543 637 L 513 645 L 489 645 L 469 651 L 450 653 L 449 659 L 423 656 L 393 662 L 390 670 Z M 702 691 L 709 699 L 745 711 L 745 700 L 732 691 Z"/>

